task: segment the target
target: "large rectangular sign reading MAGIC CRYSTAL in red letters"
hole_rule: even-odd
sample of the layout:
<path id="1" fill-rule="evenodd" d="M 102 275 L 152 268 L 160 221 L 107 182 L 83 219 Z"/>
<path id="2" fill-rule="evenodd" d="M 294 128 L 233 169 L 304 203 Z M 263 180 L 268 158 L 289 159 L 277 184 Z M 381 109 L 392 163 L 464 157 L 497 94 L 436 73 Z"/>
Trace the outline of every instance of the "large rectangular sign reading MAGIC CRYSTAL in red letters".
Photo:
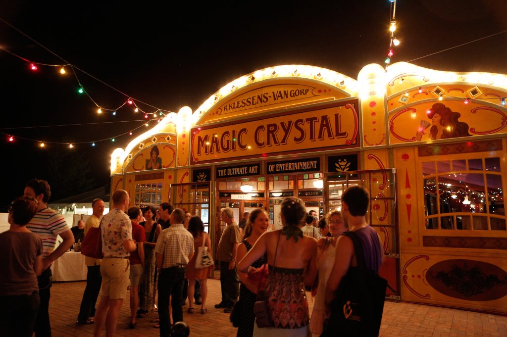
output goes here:
<path id="1" fill-rule="evenodd" d="M 237 124 L 193 128 L 192 163 L 357 147 L 356 106 L 356 100 L 332 103 Z"/>

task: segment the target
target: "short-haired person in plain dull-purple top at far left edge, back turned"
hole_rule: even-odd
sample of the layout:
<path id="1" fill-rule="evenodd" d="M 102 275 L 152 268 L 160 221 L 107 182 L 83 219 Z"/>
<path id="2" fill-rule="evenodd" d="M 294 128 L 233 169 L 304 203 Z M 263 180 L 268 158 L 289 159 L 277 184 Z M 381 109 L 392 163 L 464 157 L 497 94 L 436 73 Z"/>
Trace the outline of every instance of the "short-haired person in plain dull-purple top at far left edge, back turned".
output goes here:
<path id="1" fill-rule="evenodd" d="M 37 200 L 21 197 L 9 208 L 11 228 L 0 234 L 0 336 L 30 336 L 41 303 L 42 240 L 26 228 Z"/>

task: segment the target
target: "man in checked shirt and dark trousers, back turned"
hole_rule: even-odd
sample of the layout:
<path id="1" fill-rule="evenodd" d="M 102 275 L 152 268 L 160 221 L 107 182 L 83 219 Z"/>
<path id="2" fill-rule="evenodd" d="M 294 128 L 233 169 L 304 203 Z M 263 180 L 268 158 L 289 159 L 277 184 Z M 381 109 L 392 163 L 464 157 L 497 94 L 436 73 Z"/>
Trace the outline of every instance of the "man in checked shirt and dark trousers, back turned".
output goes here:
<path id="1" fill-rule="evenodd" d="M 185 212 L 179 208 L 172 211 L 171 226 L 157 240 L 157 267 L 159 275 L 160 336 L 168 337 L 171 330 L 169 296 L 171 296 L 172 320 L 183 321 L 182 291 L 187 264 L 194 255 L 194 238 L 183 227 Z"/>

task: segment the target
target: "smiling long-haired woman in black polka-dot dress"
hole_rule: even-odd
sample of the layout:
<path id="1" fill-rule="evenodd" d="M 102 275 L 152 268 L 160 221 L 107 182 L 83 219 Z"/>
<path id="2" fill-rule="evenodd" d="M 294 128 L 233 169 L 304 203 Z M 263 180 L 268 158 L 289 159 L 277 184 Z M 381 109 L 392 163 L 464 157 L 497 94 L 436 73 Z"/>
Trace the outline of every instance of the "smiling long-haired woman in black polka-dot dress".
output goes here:
<path id="1" fill-rule="evenodd" d="M 269 217 L 265 210 L 257 208 L 250 212 L 245 224 L 243 241 L 238 245 L 238 260 L 241 260 L 246 255 L 261 235 L 268 230 L 268 227 Z M 266 254 L 263 254 L 252 264 L 252 267 L 261 268 L 267 261 Z M 253 304 L 256 302 L 258 285 L 249 279 L 247 274 L 238 271 L 238 275 L 241 279 L 238 301 L 241 319 L 237 336 L 251 337 L 253 334 L 253 324 L 255 324 Z"/>

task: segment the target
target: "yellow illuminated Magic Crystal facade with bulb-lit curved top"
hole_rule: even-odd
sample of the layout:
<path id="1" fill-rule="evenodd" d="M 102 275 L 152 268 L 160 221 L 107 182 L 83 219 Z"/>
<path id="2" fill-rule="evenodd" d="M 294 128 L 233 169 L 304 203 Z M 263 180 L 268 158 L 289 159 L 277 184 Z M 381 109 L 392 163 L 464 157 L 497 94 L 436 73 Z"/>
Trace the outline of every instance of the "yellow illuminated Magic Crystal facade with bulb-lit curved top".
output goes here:
<path id="1" fill-rule="evenodd" d="M 112 191 L 203 218 L 281 200 L 320 215 L 365 185 L 393 298 L 507 313 L 507 77 L 395 63 L 357 80 L 284 65 L 243 76 L 112 154 Z M 502 176 L 503 174 L 503 176 Z"/>

